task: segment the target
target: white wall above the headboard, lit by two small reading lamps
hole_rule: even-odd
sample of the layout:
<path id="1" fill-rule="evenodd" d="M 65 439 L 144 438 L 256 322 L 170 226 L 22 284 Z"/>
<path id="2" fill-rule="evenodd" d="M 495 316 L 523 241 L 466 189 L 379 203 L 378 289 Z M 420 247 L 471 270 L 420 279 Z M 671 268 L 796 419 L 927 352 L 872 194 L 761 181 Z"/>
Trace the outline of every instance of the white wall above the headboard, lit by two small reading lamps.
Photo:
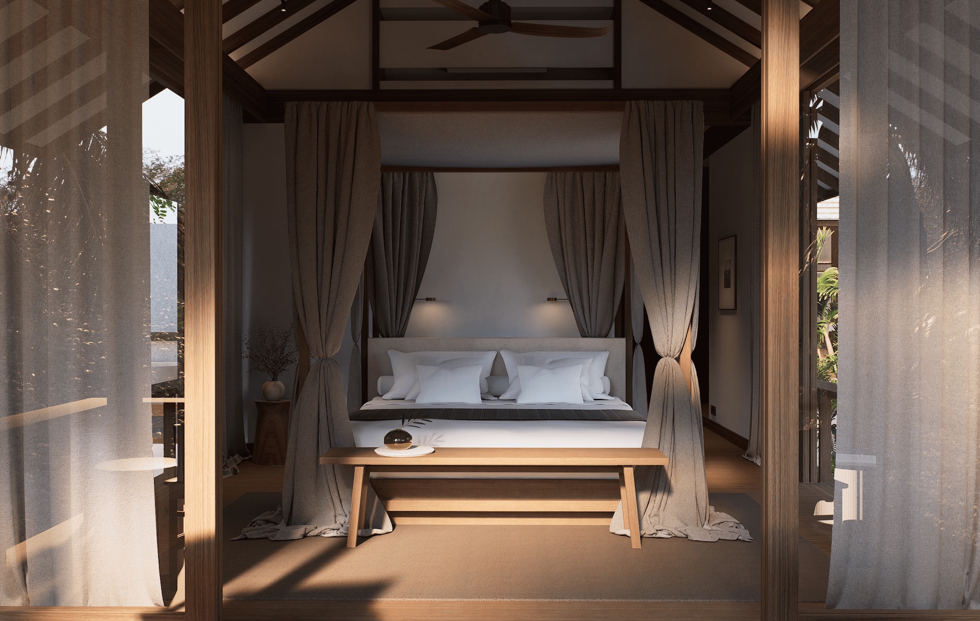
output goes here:
<path id="1" fill-rule="evenodd" d="M 578 336 L 545 232 L 544 172 L 437 173 L 432 253 L 406 336 Z"/>

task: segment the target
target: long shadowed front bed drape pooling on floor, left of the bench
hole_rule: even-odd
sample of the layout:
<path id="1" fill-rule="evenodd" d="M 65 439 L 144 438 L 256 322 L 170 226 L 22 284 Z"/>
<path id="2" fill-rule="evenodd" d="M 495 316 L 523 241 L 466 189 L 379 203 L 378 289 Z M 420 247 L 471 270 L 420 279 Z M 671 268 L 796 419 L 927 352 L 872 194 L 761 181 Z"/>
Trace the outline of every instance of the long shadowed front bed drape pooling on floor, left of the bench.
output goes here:
<path id="1" fill-rule="evenodd" d="M 282 505 L 242 532 L 248 539 L 347 534 L 353 469 L 319 465 L 332 447 L 353 447 L 340 367 L 333 357 L 347 327 L 368 254 L 381 145 L 364 102 L 286 104 L 286 210 L 293 298 L 313 361 L 289 421 Z M 368 495 L 365 534 L 391 530 Z"/>

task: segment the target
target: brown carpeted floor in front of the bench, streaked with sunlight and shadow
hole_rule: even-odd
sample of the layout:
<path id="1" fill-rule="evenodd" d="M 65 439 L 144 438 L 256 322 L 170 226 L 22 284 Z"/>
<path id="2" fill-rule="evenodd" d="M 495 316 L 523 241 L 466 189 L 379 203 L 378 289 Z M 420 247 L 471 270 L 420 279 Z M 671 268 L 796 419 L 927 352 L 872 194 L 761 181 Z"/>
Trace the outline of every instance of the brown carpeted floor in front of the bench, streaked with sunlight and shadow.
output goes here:
<path id="1" fill-rule="evenodd" d="M 250 493 L 224 510 L 227 539 L 279 495 Z M 760 532 L 745 494 L 711 494 Z M 760 543 L 647 539 L 599 526 L 398 526 L 356 549 L 342 538 L 224 544 L 227 599 L 759 600 Z M 823 601 L 829 558 L 800 540 L 801 601 Z"/>

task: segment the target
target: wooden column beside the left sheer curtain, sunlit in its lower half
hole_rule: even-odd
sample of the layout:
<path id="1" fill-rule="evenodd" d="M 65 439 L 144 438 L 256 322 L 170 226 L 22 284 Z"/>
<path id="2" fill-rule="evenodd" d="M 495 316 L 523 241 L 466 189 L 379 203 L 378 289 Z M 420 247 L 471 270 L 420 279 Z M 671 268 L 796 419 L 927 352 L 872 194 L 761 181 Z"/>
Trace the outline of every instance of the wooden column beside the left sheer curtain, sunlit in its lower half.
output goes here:
<path id="1" fill-rule="evenodd" d="M 184 5 L 187 617 L 221 618 L 221 0 Z"/>

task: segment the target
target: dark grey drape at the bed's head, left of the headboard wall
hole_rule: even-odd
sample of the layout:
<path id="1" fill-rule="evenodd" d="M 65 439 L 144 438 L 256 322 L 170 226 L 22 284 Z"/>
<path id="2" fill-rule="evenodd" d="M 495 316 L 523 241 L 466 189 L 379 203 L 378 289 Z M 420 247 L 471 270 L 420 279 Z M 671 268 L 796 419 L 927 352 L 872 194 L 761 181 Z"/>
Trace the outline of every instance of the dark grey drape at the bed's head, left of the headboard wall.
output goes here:
<path id="1" fill-rule="evenodd" d="M 385 172 L 374 215 L 370 306 L 382 337 L 403 337 L 425 273 L 436 215 L 435 175 Z"/>

